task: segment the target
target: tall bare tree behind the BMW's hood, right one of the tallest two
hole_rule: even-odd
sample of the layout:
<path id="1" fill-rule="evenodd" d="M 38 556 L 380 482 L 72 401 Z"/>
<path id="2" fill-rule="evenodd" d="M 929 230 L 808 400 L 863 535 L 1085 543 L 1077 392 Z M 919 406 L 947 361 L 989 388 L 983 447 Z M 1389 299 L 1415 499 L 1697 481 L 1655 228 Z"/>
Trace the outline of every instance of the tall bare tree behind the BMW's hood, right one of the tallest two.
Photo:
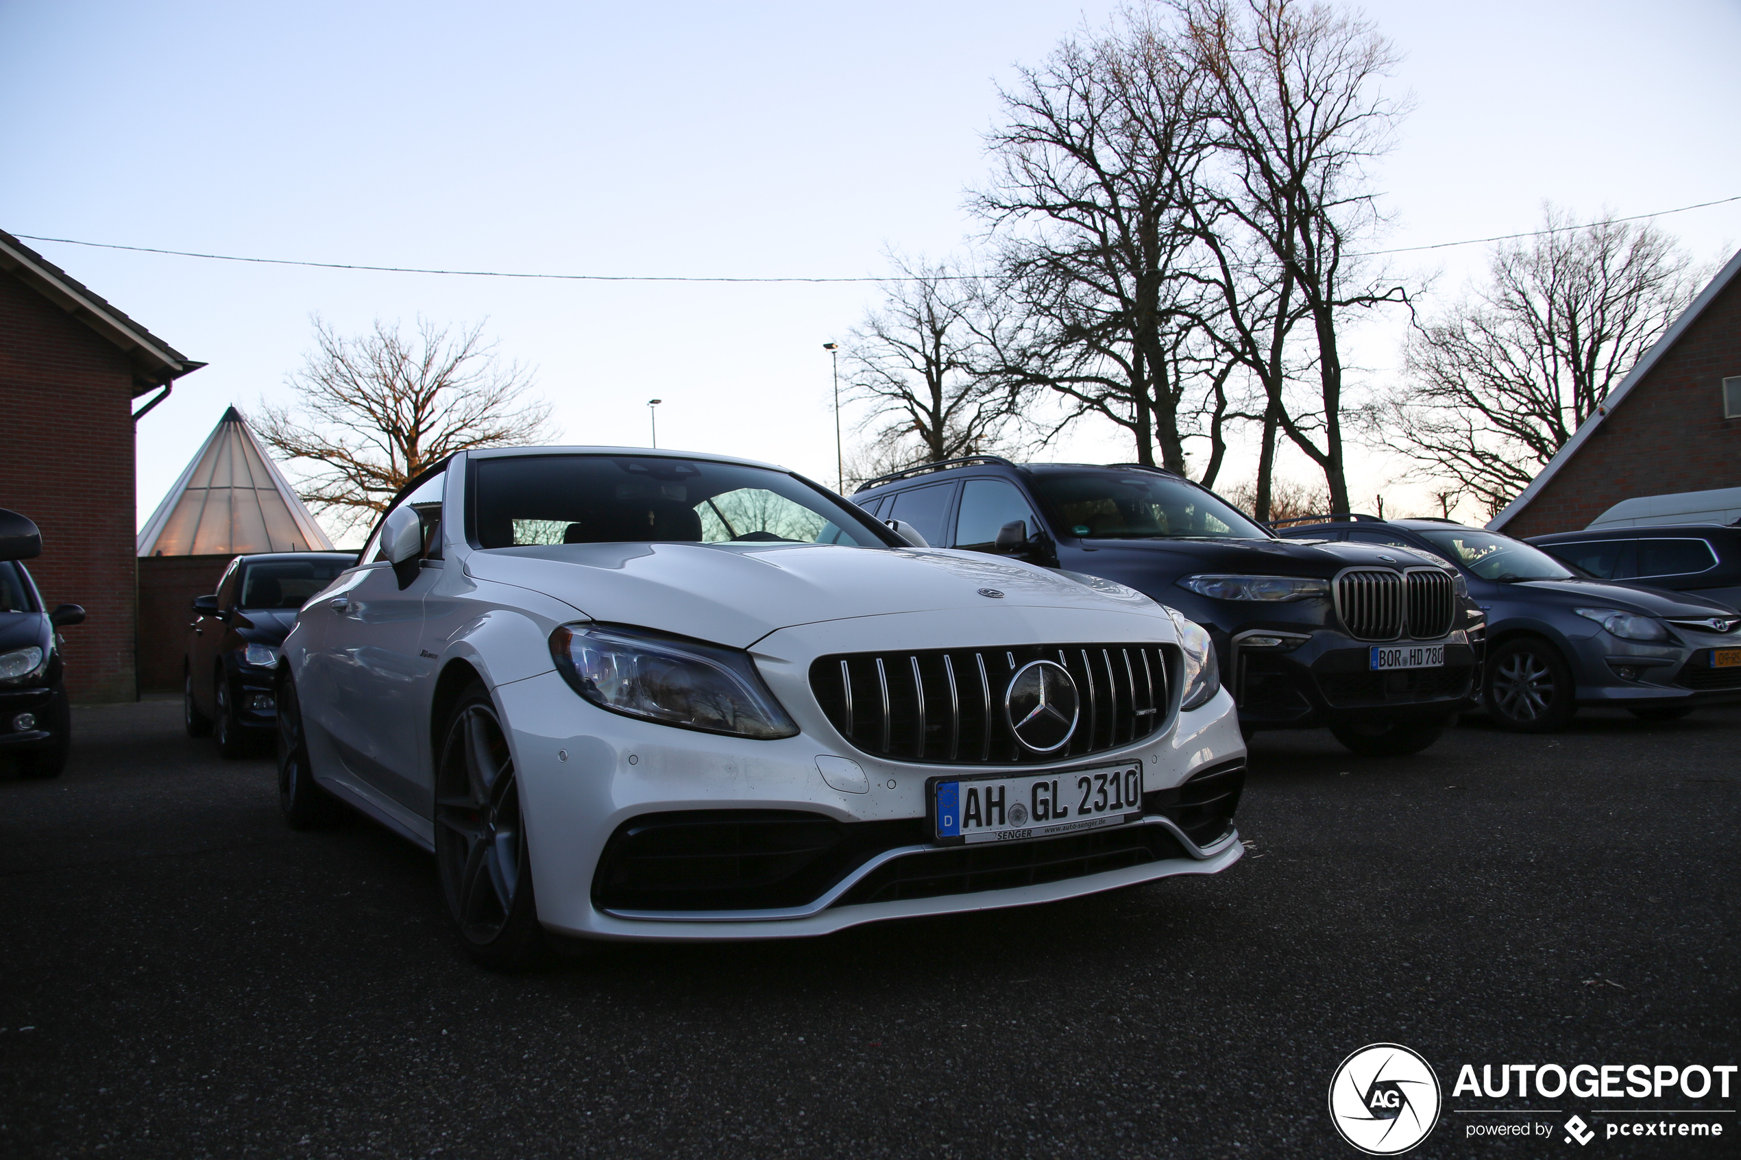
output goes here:
<path id="1" fill-rule="evenodd" d="M 1217 332 L 1264 388 L 1266 464 L 1280 428 L 1346 511 L 1341 329 L 1354 310 L 1402 301 L 1398 289 L 1363 280 L 1348 249 L 1375 221 L 1363 165 L 1389 148 L 1403 113 L 1377 90 L 1396 57 L 1370 23 L 1320 3 L 1175 0 L 1173 9 L 1212 106 L 1217 165 L 1200 170 L 1193 203 L 1205 207 L 1200 237 L 1220 268 L 1227 325 Z M 1281 365 L 1295 318 L 1307 323 L 1304 362 L 1316 379 L 1302 409 Z M 1259 508 L 1264 489 L 1260 478 Z"/>

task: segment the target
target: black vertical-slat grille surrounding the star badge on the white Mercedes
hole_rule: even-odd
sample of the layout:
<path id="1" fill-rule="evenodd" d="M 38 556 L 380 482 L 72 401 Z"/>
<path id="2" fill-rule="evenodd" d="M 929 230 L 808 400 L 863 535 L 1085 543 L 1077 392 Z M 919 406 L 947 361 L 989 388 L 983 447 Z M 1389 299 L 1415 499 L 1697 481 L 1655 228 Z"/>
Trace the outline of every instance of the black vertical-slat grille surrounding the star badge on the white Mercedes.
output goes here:
<path id="1" fill-rule="evenodd" d="M 1017 741 L 1005 711 L 1010 682 L 1036 661 L 1062 666 L 1076 685 L 1076 729 L 1045 753 Z M 1160 730 L 1177 663 L 1175 647 L 1154 643 L 853 652 L 815 661 L 810 687 L 829 722 L 864 753 L 1032 765 L 1116 750 Z"/>

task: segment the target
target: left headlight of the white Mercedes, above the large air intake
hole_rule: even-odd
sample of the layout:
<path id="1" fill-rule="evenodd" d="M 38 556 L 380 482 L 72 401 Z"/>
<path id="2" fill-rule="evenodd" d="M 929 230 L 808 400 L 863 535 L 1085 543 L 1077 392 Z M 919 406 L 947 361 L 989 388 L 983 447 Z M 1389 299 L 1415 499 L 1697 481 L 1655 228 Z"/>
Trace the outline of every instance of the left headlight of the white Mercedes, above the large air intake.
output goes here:
<path id="1" fill-rule="evenodd" d="M 550 633 L 550 656 L 575 692 L 601 710 L 738 737 L 797 734 L 740 649 L 635 628 L 564 624 Z"/>

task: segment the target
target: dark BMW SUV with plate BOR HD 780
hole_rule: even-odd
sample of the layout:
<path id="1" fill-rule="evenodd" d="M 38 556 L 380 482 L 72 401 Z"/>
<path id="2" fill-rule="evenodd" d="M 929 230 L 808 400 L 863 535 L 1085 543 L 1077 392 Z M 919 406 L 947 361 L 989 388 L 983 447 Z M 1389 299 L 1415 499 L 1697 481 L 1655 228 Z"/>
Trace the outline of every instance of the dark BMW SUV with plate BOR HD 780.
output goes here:
<path id="1" fill-rule="evenodd" d="M 933 463 L 857 503 L 940 548 L 1135 588 L 1208 630 L 1240 725 L 1328 725 L 1356 753 L 1415 753 L 1476 704 L 1482 612 L 1438 557 L 1276 537 L 1213 492 L 1139 464 Z"/>

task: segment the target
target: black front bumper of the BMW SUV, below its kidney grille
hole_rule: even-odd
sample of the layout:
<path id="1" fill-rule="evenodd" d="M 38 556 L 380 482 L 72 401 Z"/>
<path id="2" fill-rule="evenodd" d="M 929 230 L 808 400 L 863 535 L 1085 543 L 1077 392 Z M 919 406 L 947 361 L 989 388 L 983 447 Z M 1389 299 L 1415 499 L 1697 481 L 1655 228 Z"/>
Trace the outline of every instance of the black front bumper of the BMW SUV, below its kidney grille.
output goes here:
<path id="1" fill-rule="evenodd" d="M 1283 643 L 1254 647 L 1252 640 Z M 1372 649 L 1443 645 L 1445 664 L 1372 670 Z M 1440 640 L 1365 642 L 1335 630 L 1247 628 L 1227 640 L 1224 670 L 1247 729 L 1311 729 L 1372 720 L 1449 717 L 1480 696 L 1480 650 L 1466 633 Z"/>

